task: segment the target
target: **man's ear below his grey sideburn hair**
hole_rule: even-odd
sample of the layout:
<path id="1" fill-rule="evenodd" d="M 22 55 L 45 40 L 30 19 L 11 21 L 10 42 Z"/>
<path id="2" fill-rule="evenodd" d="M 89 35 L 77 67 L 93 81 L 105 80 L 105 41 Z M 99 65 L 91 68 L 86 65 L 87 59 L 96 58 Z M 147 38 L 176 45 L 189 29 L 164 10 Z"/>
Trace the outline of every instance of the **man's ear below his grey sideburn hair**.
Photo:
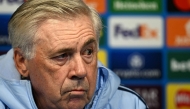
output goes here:
<path id="1" fill-rule="evenodd" d="M 22 51 L 19 48 L 14 49 L 14 61 L 15 61 L 15 66 L 18 70 L 18 72 L 23 76 L 23 77 L 28 77 L 29 76 L 29 71 L 27 69 L 27 59 L 23 56 Z"/>

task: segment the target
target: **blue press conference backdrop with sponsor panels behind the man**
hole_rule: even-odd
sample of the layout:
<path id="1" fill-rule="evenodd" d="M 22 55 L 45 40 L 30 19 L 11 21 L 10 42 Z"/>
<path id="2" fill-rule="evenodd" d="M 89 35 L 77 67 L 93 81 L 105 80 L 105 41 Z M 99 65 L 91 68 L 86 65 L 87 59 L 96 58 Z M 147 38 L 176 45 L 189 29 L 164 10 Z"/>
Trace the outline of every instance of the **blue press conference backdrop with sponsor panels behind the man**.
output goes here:
<path id="1" fill-rule="evenodd" d="M 150 109 L 190 109 L 190 1 L 84 0 L 101 15 L 99 60 Z M 24 0 L 0 0 L 0 54 Z"/>

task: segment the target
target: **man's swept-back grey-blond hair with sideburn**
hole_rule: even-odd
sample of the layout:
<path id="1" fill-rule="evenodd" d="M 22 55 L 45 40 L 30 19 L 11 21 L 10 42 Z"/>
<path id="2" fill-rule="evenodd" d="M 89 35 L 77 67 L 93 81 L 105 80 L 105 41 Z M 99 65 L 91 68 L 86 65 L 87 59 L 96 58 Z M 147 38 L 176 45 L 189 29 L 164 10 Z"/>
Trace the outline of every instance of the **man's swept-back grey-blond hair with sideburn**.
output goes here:
<path id="1" fill-rule="evenodd" d="M 13 48 L 20 48 L 24 57 L 31 59 L 35 55 L 36 31 L 47 19 L 69 19 L 88 16 L 94 26 L 97 39 L 102 29 L 98 13 L 82 0 L 28 0 L 12 15 L 9 25 L 9 39 Z"/>

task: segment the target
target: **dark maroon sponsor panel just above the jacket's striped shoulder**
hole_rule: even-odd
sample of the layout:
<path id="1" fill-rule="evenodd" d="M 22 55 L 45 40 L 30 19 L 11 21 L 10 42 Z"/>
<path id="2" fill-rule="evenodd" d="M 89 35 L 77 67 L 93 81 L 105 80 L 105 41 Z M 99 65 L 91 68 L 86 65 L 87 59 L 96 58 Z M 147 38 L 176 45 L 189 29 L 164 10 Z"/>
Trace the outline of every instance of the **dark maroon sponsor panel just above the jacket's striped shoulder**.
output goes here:
<path id="1" fill-rule="evenodd" d="M 128 86 L 137 92 L 146 102 L 150 109 L 162 109 L 162 88 L 161 86 Z"/>

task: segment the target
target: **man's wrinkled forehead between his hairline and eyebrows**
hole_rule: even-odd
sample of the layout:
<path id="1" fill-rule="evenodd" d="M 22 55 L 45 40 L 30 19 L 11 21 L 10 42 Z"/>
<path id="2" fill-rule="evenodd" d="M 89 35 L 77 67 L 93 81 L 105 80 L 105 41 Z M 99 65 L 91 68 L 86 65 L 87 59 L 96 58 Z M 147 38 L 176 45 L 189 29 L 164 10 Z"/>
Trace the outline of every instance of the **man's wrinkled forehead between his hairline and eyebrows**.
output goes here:
<path id="1" fill-rule="evenodd" d="M 48 19 L 38 28 L 36 37 L 38 40 L 57 41 L 78 38 L 85 34 L 95 36 L 95 31 L 92 21 L 82 16 L 73 19 Z"/>

